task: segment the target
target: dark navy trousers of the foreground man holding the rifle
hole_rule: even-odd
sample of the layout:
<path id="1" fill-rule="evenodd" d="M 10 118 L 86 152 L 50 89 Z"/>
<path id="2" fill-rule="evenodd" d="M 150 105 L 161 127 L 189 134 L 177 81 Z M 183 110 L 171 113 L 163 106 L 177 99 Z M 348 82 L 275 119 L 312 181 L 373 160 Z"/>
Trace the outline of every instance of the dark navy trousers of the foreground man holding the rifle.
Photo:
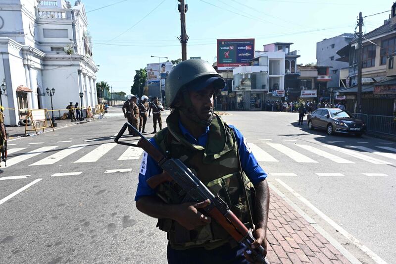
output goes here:
<path id="1" fill-rule="evenodd" d="M 249 262 L 244 257 L 245 250 L 246 247 L 242 243 L 235 248 L 226 244 L 213 250 L 204 248 L 175 250 L 168 243 L 166 255 L 169 264 L 247 264 Z"/>

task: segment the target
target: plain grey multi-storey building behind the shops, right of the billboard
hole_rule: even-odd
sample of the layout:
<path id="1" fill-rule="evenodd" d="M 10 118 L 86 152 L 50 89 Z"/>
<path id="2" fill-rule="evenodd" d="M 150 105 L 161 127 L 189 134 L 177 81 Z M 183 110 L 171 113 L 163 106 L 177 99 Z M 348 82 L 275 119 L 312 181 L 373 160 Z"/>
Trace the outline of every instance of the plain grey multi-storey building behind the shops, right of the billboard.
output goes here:
<path id="1" fill-rule="evenodd" d="M 348 67 L 348 63 L 337 61 L 336 59 L 340 56 L 336 52 L 347 46 L 352 39 L 353 34 L 345 33 L 316 43 L 316 64 L 319 66 L 333 66 L 333 68 L 329 69 L 332 80 L 327 83 L 328 88 L 340 86 L 340 70 Z M 334 48 L 331 47 L 332 44 L 334 44 Z M 331 56 L 334 56 L 334 60 L 330 59 Z M 337 70 L 337 73 L 334 73 L 334 70 Z"/>

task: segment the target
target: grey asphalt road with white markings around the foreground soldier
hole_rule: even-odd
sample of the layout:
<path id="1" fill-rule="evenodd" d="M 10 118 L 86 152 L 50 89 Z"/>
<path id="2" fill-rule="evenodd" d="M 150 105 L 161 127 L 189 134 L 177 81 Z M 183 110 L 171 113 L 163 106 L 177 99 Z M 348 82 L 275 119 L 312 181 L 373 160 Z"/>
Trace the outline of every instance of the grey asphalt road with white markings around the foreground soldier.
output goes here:
<path id="1" fill-rule="evenodd" d="M 133 200 L 142 151 L 113 143 L 125 121 L 120 111 L 9 142 L 0 175 L 0 263 L 166 262 L 166 235 Z M 271 186 L 359 259 L 367 256 L 332 221 L 395 263 L 396 144 L 309 131 L 292 113 L 222 117 L 243 132 Z"/>

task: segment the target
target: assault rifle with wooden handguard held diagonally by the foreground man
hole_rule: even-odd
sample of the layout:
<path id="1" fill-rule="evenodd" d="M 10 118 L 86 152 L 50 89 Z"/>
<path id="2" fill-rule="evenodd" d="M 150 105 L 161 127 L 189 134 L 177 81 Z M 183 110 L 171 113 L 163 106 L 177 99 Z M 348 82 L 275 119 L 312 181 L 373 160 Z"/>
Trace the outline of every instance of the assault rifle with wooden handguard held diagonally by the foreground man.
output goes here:
<path id="1" fill-rule="evenodd" d="M 128 127 L 135 130 L 135 133 L 141 137 L 138 144 L 119 141 Z M 256 249 L 251 247 L 251 244 L 255 241 L 254 237 L 230 210 L 227 203 L 220 196 L 214 196 L 180 159 L 167 158 L 162 155 L 159 150 L 128 122 L 118 132 L 114 141 L 117 144 L 142 148 L 164 170 L 163 173 L 150 177 L 147 180 L 148 186 L 155 189 L 161 183 L 174 181 L 186 191 L 192 201 L 202 202 L 209 200 L 210 204 L 202 209 L 204 213 L 215 219 L 237 242 L 245 244 L 251 252 L 250 256 L 255 262 L 268 264 L 263 256 L 264 248 L 262 246 Z"/>

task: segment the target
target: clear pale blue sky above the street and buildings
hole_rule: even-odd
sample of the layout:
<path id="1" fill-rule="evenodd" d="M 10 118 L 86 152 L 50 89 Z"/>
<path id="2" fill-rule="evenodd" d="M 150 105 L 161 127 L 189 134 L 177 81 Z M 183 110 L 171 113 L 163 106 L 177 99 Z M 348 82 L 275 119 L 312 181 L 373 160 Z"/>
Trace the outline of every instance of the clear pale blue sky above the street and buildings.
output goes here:
<path id="1" fill-rule="evenodd" d="M 177 0 L 82 0 L 92 36 L 97 82 L 130 93 L 135 70 L 181 58 Z M 215 61 L 216 39 L 254 38 L 255 50 L 294 43 L 297 64 L 316 62 L 316 43 L 354 33 L 357 16 L 391 9 L 393 0 L 185 0 L 187 57 Z M 110 5 L 104 7 L 106 5 Z M 95 10 L 101 8 L 99 10 Z M 92 11 L 91 11 L 92 10 Z M 363 33 L 381 26 L 389 12 L 364 18 Z M 166 59 L 162 58 L 162 61 Z"/>

